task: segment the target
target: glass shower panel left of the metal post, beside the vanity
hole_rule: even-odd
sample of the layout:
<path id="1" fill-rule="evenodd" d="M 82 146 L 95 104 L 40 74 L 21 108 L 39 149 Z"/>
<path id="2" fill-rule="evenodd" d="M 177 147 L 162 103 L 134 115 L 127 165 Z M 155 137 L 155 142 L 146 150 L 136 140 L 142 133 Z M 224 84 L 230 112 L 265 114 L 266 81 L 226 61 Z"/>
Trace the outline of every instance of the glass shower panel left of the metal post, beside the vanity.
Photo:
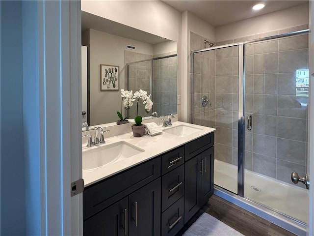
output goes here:
<path id="1" fill-rule="evenodd" d="M 214 184 L 235 194 L 238 51 L 238 46 L 232 46 L 193 54 L 192 99 L 193 123 L 216 128 Z"/>

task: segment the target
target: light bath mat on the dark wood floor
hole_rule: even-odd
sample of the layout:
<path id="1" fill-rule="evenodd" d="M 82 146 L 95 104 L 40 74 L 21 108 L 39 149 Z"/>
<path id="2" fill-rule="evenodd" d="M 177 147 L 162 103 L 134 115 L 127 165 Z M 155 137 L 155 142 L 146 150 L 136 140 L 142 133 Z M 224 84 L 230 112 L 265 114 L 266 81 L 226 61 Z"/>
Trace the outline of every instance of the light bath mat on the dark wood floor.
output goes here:
<path id="1" fill-rule="evenodd" d="M 235 229 L 216 219 L 215 217 L 203 213 L 183 236 L 243 236 Z"/>

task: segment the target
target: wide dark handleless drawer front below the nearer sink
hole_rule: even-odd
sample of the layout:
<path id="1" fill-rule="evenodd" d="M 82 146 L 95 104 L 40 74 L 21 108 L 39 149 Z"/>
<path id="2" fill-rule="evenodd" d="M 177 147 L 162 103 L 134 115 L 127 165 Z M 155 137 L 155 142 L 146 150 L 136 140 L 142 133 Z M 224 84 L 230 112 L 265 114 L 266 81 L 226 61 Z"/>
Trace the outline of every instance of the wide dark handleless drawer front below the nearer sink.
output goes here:
<path id="1" fill-rule="evenodd" d="M 83 191 L 83 219 L 160 177 L 160 157 L 104 179 Z"/>

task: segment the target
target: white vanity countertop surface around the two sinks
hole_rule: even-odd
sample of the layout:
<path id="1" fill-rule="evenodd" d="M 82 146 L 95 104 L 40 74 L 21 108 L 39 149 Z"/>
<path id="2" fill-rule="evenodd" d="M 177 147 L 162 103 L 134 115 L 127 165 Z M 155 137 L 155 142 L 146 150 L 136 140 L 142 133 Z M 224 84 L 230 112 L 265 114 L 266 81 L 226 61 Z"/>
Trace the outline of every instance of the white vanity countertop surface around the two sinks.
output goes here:
<path id="1" fill-rule="evenodd" d="M 91 172 L 83 170 L 83 179 L 84 179 L 84 186 L 91 185 L 95 182 L 98 182 L 99 180 L 105 179 L 107 177 L 113 176 L 119 172 L 122 172 L 126 169 L 129 169 L 130 167 L 133 167 L 135 165 L 138 165 L 139 163 L 142 163 L 144 161 L 147 161 L 151 158 L 157 157 L 160 154 L 167 152 L 173 148 L 177 148 L 182 146 L 185 143 L 188 143 L 194 139 L 197 139 L 201 136 L 204 136 L 206 134 L 209 134 L 216 129 L 209 128 L 206 126 L 200 126 L 196 124 L 190 124 L 185 123 L 181 121 L 175 121 L 172 123 L 172 127 L 178 126 L 178 125 L 186 125 L 191 126 L 195 128 L 201 129 L 200 131 L 197 131 L 195 133 L 189 134 L 185 137 L 179 137 L 176 135 L 168 134 L 166 132 L 163 132 L 162 134 L 158 134 L 156 136 L 149 136 L 144 135 L 142 137 L 133 137 L 132 132 L 121 134 L 109 138 L 105 138 L 105 144 L 98 145 L 95 147 L 91 147 L 93 149 L 100 148 L 106 145 L 110 145 L 113 143 L 117 143 L 120 141 L 125 141 L 130 143 L 131 145 L 134 145 L 138 148 L 142 148 L 145 151 L 141 152 L 139 154 L 136 154 L 134 156 L 131 156 L 128 159 L 124 159 L 121 161 L 116 161 L 114 163 L 110 163 L 108 165 L 105 165 L 103 167 L 100 167 L 98 169 L 95 169 Z M 169 127 L 165 127 L 162 129 L 167 129 Z M 83 144 L 83 158 L 84 158 L 84 151 L 90 150 L 91 148 L 85 147 L 86 144 Z"/>

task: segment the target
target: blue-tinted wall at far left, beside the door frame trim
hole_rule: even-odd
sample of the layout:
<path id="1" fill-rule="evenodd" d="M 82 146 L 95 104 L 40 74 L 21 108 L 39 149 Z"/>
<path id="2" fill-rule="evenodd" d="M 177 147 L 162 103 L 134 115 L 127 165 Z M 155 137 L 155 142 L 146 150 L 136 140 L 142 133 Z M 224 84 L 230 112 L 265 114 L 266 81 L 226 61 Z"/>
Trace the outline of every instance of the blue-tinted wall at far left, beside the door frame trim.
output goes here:
<path id="1" fill-rule="evenodd" d="M 1 235 L 25 235 L 22 2 L 1 8 Z"/>

